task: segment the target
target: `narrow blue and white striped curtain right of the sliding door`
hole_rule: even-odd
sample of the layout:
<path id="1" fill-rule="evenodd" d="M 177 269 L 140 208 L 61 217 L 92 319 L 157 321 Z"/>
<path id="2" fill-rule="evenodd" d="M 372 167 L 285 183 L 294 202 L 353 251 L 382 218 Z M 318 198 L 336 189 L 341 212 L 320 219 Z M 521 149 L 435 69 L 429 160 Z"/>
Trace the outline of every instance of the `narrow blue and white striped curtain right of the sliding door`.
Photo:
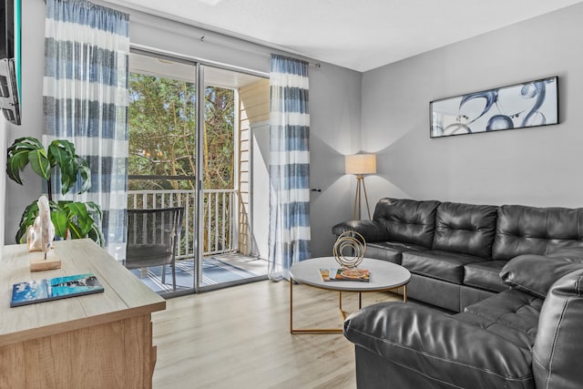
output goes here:
<path id="1" fill-rule="evenodd" d="M 310 258 L 308 64 L 271 55 L 269 277 Z"/>

